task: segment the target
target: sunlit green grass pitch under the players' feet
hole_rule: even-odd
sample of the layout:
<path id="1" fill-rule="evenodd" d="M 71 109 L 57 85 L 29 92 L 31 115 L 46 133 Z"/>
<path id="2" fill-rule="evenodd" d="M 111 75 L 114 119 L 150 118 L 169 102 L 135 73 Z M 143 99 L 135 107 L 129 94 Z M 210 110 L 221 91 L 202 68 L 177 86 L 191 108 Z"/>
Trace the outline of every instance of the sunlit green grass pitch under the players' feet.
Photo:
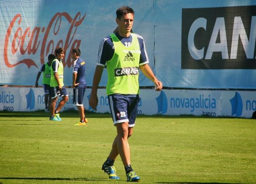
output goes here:
<path id="1" fill-rule="evenodd" d="M 101 170 L 116 136 L 109 114 L 0 112 L 0 183 L 127 183 Z M 138 116 L 129 138 L 131 164 L 140 183 L 255 184 L 256 120 Z"/>

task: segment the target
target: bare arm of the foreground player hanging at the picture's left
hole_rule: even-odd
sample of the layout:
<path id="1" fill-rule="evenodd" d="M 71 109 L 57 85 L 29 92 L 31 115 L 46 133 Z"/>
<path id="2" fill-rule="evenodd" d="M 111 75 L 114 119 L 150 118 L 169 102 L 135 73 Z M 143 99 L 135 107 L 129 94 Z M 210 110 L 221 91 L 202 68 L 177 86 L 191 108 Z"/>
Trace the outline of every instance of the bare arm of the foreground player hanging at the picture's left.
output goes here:
<path id="1" fill-rule="evenodd" d="M 104 67 L 101 65 L 97 65 L 94 76 L 93 76 L 93 82 L 92 82 L 92 92 L 89 100 L 89 105 L 94 109 L 97 110 L 97 105 L 98 105 L 98 97 L 97 97 L 97 91 L 100 83 L 100 79 L 102 76 Z"/>

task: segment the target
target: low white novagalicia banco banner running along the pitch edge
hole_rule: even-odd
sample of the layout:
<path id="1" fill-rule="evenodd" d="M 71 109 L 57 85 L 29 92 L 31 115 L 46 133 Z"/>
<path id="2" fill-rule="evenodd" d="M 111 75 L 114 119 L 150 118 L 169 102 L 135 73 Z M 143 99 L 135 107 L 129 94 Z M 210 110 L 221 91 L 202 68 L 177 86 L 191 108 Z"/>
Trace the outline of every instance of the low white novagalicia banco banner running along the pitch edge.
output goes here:
<path id="1" fill-rule="evenodd" d="M 62 111 L 77 110 L 73 89 L 67 88 L 69 100 Z M 83 104 L 89 107 L 91 89 L 86 89 Z M 251 118 L 256 111 L 256 91 L 163 90 L 140 89 L 138 115 L 196 115 Z M 98 113 L 109 111 L 106 89 L 98 89 Z M 59 97 L 58 100 L 61 100 Z M 36 111 L 45 108 L 43 88 L 0 87 L 0 111 Z"/>

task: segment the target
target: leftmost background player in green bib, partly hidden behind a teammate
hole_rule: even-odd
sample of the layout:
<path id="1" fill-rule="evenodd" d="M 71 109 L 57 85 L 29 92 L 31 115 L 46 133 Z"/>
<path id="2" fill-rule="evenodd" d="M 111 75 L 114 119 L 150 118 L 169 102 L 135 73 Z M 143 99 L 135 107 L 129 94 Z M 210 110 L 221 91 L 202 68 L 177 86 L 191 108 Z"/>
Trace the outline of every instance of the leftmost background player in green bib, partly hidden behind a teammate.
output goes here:
<path id="1" fill-rule="evenodd" d="M 36 76 L 36 83 L 35 83 L 35 87 L 38 87 L 38 79 L 41 75 L 41 73 L 43 73 L 43 90 L 45 92 L 45 112 L 50 112 L 50 103 L 51 103 L 51 98 L 50 98 L 50 80 L 51 80 L 51 64 L 52 64 L 52 60 L 55 59 L 55 55 L 50 54 L 48 55 L 48 62 L 43 64 Z"/>

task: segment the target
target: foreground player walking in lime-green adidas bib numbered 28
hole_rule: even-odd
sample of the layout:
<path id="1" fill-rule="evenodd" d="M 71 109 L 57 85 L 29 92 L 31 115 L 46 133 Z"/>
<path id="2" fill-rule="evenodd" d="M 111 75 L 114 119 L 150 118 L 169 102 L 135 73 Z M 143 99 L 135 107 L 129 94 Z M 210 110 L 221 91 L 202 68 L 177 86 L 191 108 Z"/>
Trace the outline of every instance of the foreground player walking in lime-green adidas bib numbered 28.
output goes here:
<path id="1" fill-rule="evenodd" d="M 107 95 L 117 136 L 112 143 L 112 149 L 102 170 L 107 172 L 110 179 L 119 179 L 114 167 L 118 154 L 121 157 L 127 181 L 139 181 L 140 177 L 131 167 L 130 146 L 128 138 L 133 133 L 139 97 L 139 69 L 156 86 L 156 91 L 163 87 L 153 74 L 148 63 L 144 39 L 138 34 L 131 33 L 134 11 L 130 7 L 120 7 L 116 10 L 118 31 L 104 38 L 100 43 L 97 66 L 93 77 L 90 106 L 96 109 L 98 104 L 97 89 L 104 66 L 107 66 Z"/>

